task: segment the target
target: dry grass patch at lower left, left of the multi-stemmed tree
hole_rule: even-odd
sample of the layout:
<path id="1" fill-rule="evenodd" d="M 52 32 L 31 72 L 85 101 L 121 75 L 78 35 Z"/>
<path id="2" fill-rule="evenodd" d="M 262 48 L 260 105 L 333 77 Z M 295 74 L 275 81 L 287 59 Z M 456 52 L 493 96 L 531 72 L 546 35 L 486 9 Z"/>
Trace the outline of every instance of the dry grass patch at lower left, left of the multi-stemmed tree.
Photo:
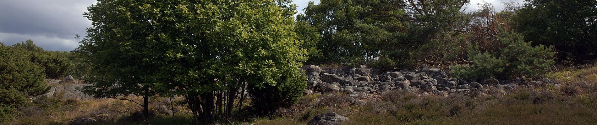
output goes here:
<path id="1" fill-rule="evenodd" d="M 165 114 L 159 100 L 155 98 L 150 105 L 152 118 L 150 124 L 190 124 L 190 116 L 184 105 L 175 104 L 176 121 L 170 114 Z M 38 98 L 29 107 L 20 108 L 20 114 L 11 121 L 0 124 L 72 124 L 81 118 L 94 118 L 97 124 L 143 124 L 141 107 L 134 102 L 115 99 L 95 99 L 88 101 Z"/>

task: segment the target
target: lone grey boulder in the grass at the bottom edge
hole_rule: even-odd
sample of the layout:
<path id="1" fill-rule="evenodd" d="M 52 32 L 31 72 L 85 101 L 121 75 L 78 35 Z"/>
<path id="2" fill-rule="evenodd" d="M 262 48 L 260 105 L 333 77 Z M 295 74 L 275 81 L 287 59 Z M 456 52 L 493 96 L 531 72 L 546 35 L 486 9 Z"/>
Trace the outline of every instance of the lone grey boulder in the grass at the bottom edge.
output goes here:
<path id="1" fill-rule="evenodd" d="M 340 116 L 333 111 L 319 114 L 307 123 L 307 125 L 338 125 L 350 121 L 348 117 Z"/>

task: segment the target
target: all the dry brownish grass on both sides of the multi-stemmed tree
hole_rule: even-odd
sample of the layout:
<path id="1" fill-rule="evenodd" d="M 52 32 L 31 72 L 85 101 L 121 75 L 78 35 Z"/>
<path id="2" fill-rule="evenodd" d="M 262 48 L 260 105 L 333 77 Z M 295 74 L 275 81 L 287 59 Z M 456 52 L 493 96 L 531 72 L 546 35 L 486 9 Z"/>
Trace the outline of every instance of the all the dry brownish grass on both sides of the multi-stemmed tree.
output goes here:
<path id="1" fill-rule="evenodd" d="M 351 105 L 342 93 L 307 95 L 273 116 L 232 124 L 306 124 L 318 114 L 334 111 L 352 120 L 345 124 L 595 124 L 597 123 L 597 67 L 565 69 L 547 74 L 559 88 L 519 88 L 507 95 L 470 97 L 421 96 L 394 91 Z M 165 111 L 166 98 L 153 98 L 150 124 L 191 124 L 185 104 L 175 102 L 176 120 Z M 356 99 L 358 101 L 359 99 Z M 19 116 L 0 124 L 69 124 L 95 118 L 97 124 L 147 124 L 140 121 L 140 107 L 133 102 L 40 98 L 21 108 Z M 250 113 L 249 113 L 250 114 Z M 250 117 L 250 116 L 248 116 Z M 250 119 L 250 118 L 248 118 Z"/>

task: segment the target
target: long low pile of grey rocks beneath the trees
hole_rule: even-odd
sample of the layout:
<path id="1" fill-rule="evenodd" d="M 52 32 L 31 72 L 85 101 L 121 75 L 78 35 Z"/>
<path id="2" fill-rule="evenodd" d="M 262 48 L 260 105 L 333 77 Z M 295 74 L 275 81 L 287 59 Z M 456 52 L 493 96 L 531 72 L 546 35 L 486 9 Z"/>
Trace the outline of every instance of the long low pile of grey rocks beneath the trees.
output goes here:
<path id="1" fill-rule="evenodd" d="M 507 89 L 516 87 L 516 85 L 507 84 L 507 81 L 498 81 L 495 78 L 482 81 L 459 80 L 448 77 L 444 70 L 425 67 L 385 72 L 364 65 L 344 69 L 304 66 L 303 69 L 306 70 L 308 77 L 307 94 L 339 91 L 355 98 L 365 98 L 377 92 L 404 90 L 423 95 L 448 96 L 451 93 L 487 94 L 489 88 L 497 93 L 506 94 Z"/>

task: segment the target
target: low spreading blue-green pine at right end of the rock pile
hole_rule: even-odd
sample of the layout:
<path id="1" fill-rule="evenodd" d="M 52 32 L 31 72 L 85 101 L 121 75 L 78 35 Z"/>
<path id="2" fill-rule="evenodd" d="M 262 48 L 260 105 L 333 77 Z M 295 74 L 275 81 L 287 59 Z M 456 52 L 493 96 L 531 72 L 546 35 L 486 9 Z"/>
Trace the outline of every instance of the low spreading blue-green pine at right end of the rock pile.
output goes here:
<path id="1" fill-rule="evenodd" d="M 500 33 L 503 47 L 497 51 L 469 46 L 469 60 L 475 64 L 467 67 L 453 66 L 451 73 L 463 78 L 509 78 L 511 76 L 540 76 L 546 73 L 555 62 L 550 47 L 532 46 L 524 36 L 516 33 Z M 485 51 L 485 52 L 483 52 Z"/>

